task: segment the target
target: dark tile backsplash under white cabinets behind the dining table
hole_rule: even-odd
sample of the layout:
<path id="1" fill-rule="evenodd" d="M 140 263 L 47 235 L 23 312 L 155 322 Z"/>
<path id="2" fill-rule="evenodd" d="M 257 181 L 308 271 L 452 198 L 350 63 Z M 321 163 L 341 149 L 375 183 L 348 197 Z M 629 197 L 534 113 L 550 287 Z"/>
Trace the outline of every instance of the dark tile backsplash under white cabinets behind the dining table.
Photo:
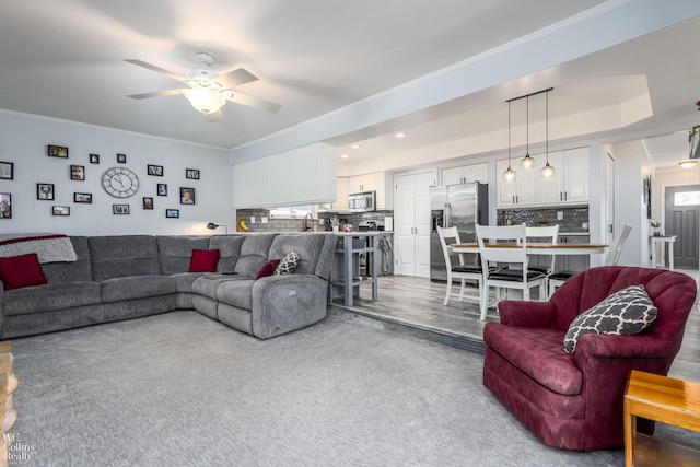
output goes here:
<path id="1" fill-rule="evenodd" d="M 562 219 L 558 219 L 561 213 Z M 497 211 L 499 225 L 557 225 L 559 232 L 586 232 L 588 208 L 504 209 Z"/>

